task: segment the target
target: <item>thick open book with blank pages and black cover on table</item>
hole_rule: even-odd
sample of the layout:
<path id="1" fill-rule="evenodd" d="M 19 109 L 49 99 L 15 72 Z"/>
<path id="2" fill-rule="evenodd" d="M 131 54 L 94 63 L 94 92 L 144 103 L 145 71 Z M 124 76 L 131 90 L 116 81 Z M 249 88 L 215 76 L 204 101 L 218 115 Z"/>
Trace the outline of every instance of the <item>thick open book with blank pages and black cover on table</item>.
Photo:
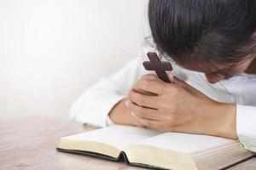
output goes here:
<path id="1" fill-rule="evenodd" d="M 119 125 L 61 138 L 57 150 L 138 167 L 185 170 L 220 169 L 253 156 L 232 139 Z"/>

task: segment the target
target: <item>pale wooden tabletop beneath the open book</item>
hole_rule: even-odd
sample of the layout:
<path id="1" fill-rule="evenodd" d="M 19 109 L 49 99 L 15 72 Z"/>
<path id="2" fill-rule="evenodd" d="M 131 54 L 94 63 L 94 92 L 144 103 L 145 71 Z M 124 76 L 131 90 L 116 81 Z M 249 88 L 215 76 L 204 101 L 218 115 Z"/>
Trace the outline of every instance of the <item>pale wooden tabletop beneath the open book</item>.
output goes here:
<path id="1" fill-rule="evenodd" d="M 0 122 L 0 169 L 2 170 L 142 170 L 125 164 L 55 150 L 63 136 L 94 129 L 61 118 L 31 116 Z M 229 170 L 256 169 L 256 157 Z"/>

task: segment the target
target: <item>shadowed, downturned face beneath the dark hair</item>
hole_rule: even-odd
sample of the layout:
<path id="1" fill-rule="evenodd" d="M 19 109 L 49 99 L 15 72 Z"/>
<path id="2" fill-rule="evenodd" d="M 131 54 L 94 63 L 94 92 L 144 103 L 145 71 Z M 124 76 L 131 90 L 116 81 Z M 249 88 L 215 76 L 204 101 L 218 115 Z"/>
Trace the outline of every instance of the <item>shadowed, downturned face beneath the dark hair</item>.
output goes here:
<path id="1" fill-rule="evenodd" d="M 214 65 L 212 67 L 204 67 L 201 64 L 187 64 L 183 65 L 185 69 L 191 71 L 200 71 L 205 74 L 207 77 L 207 81 L 210 83 L 219 82 L 223 79 L 229 79 L 237 74 L 241 74 L 245 72 L 248 66 L 253 62 L 255 56 L 251 57 L 250 59 L 246 59 L 234 65 Z M 204 64 L 205 65 L 205 64 Z"/>

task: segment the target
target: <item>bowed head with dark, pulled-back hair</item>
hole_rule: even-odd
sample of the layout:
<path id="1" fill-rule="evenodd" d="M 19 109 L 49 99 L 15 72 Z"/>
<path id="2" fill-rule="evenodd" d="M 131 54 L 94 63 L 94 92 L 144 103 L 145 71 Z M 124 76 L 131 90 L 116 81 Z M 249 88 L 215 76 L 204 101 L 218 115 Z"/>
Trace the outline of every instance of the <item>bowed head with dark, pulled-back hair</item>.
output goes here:
<path id="1" fill-rule="evenodd" d="M 148 20 L 160 52 L 209 82 L 245 71 L 255 57 L 255 0 L 150 0 Z"/>

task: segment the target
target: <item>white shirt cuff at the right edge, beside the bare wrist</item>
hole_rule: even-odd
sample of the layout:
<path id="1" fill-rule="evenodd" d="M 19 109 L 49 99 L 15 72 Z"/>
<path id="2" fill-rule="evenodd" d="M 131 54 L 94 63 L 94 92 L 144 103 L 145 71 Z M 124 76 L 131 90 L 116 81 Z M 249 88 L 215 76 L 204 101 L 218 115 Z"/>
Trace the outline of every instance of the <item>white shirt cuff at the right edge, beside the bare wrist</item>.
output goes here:
<path id="1" fill-rule="evenodd" d="M 256 107 L 236 105 L 236 132 L 245 149 L 256 152 Z"/>

